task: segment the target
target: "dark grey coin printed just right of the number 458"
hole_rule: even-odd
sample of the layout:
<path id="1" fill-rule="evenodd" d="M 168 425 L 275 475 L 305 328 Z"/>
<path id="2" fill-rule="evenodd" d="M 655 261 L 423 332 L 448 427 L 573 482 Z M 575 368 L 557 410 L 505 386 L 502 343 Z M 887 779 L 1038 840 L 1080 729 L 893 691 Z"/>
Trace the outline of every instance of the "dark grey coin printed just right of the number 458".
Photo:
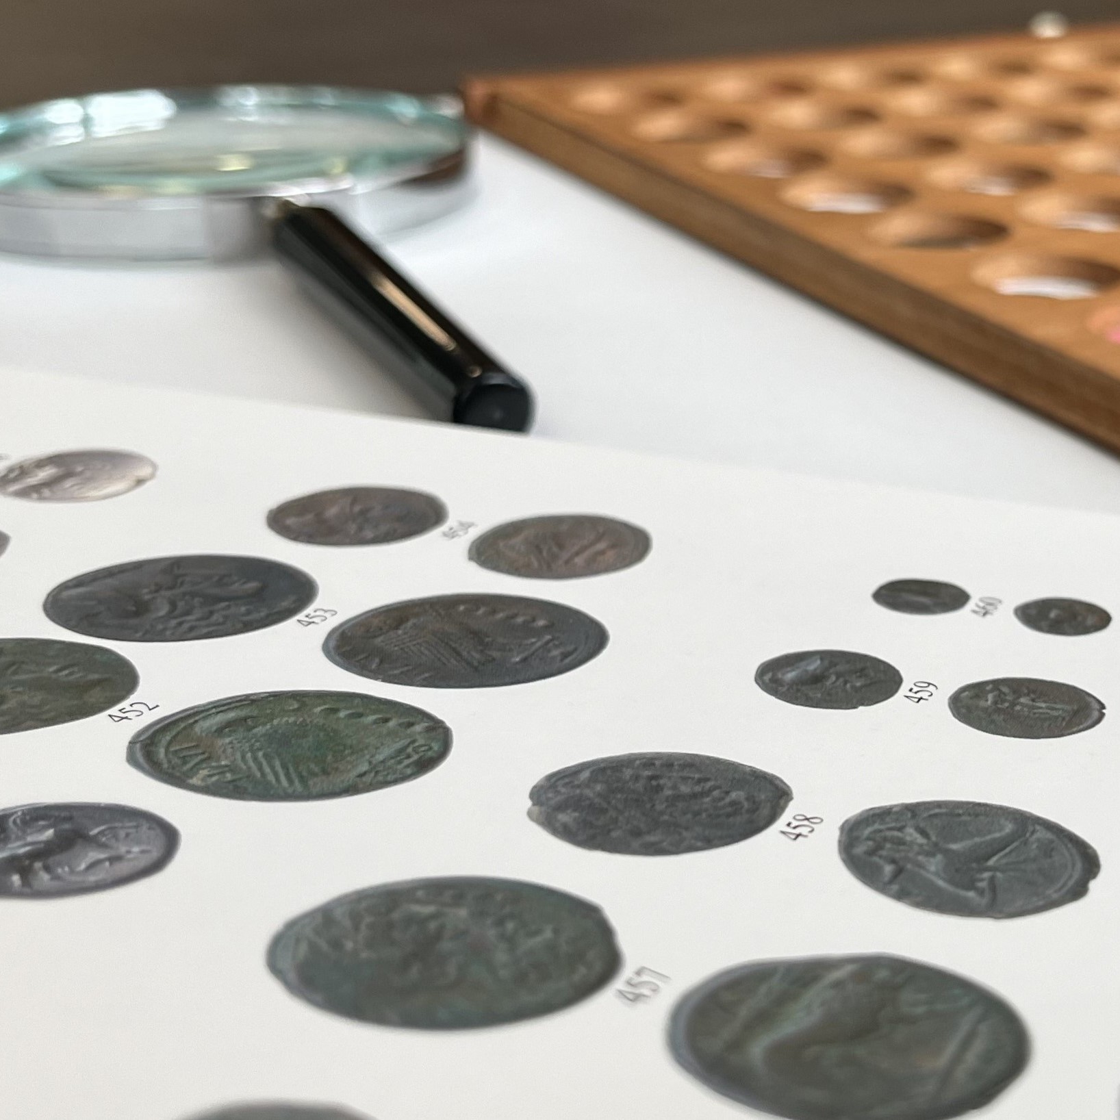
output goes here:
<path id="1" fill-rule="evenodd" d="M 878 805 L 844 821 L 840 857 L 872 890 L 962 917 L 1021 917 L 1081 898 L 1101 869 L 1079 836 L 974 801 Z"/>

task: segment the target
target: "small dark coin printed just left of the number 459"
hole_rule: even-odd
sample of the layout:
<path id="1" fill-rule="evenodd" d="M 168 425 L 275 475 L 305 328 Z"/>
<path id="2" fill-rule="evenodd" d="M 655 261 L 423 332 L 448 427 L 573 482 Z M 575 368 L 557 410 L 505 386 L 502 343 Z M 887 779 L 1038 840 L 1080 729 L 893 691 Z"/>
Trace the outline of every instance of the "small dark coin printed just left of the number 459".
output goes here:
<path id="1" fill-rule="evenodd" d="M 894 665 L 869 653 L 806 650 L 764 661 L 755 683 L 802 708 L 853 709 L 889 700 L 903 685 Z"/>

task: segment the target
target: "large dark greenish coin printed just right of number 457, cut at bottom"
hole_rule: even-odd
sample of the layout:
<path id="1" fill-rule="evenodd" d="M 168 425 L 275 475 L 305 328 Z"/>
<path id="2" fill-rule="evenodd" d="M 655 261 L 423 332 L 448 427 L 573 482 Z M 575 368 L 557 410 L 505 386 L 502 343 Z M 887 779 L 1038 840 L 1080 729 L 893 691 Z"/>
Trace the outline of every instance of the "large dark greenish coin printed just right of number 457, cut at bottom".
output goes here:
<path id="1" fill-rule="evenodd" d="M 997 995 L 886 955 L 729 969 L 676 1005 L 670 1046 L 709 1089 L 791 1120 L 956 1117 L 998 1096 L 1029 1055 Z"/>

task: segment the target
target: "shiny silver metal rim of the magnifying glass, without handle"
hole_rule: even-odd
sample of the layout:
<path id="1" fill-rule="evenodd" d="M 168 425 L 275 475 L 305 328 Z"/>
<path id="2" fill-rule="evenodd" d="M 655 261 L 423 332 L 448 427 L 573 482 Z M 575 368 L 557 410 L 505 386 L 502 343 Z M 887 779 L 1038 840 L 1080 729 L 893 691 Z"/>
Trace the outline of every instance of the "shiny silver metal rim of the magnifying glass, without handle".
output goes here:
<path id="1" fill-rule="evenodd" d="M 177 106 L 198 105 L 209 99 L 217 108 L 235 108 L 236 99 L 253 96 L 291 99 L 306 94 L 308 108 L 334 108 L 333 96 L 364 99 L 372 110 L 398 114 L 403 123 L 421 120 L 445 129 L 447 148 L 361 178 L 351 174 L 311 176 L 211 194 L 12 190 L 0 186 L 0 253 L 87 262 L 242 260 L 267 249 L 267 216 L 277 198 L 329 206 L 380 236 L 441 217 L 470 195 L 472 132 L 461 103 L 454 96 L 414 97 L 330 86 L 225 85 L 64 97 L 0 113 L 0 153 L 9 137 L 15 138 L 9 141 L 12 143 L 26 139 L 26 150 L 35 150 L 37 121 L 44 122 L 41 150 L 55 147 L 46 136 L 52 113 L 84 109 L 94 99 L 105 104 L 110 99 L 147 93 L 170 99 Z"/>

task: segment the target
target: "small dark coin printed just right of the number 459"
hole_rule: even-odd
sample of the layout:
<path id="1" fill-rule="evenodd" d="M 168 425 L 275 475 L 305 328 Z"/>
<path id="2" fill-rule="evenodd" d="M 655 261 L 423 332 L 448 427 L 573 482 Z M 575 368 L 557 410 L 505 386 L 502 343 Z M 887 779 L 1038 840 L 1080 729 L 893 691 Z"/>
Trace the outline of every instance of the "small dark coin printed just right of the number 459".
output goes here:
<path id="1" fill-rule="evenodd" d="M 965 684 L 949 698 L 949 710 L 978 731 L 1015 739 L 1057 739 L 1104 719 L 1104 704 L 1091 692 L 1033 676 Z"/>

